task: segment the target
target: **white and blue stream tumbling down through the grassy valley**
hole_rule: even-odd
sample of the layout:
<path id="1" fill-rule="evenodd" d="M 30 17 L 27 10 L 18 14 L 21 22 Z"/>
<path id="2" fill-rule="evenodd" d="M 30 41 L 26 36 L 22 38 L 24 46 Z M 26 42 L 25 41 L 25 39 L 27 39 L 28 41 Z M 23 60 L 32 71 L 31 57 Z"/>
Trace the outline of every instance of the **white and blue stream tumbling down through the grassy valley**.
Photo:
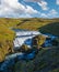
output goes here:
<path id="1" fill-rule="evenodd" d="M 13 30 L 16 33 L 16 37 L 13 41 L 14 50 L 20 49 L 22 44 L 26 44 L 28 48 L 31 48 L 32 38 L 34 38 L 35 35 L 42 34 L 38 31 L 27 31 L 27 30 L 19 30 L 19 29 L 13 29 Z M 44 34 L 44 35 L 48 35 L 48 34 Z M 56 37 L 51 34 L 49 35 L 51 37 L 50 40 L 46 40 L 43 47 L 52 45 L 51 40 L 54 40 Z M 2 63 L 0 63 L 0 72 L 11 72 L 10 68 L 13 66 L 16 61 L 34 59 L 35 53 L 36 53 L 35 51 L 28 54 L 20 52 L 20 53 L 14 53 L 14 54 L 5 56 L 5 60 Z"/>

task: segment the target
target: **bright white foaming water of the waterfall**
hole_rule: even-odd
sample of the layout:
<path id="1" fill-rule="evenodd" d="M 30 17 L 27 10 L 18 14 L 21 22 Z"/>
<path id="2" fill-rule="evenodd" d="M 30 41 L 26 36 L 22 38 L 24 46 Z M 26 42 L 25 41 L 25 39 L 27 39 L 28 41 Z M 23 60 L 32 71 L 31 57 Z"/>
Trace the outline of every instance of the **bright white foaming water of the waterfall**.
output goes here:
<path id="1" fill-rule="evenodd" d="M 33 37 L 40 34 L 40 32 L 38 31 L 26 31 L 26 30 L 15 30 L 16 32 L 16 38 L 13 41 L 14 42 L 14 48 L 20 48 L 22 44 L 24 44 L 24 42 L 28 39 L 32 39 Z M 27 47 L 31 47 L 31 44 Z"/>

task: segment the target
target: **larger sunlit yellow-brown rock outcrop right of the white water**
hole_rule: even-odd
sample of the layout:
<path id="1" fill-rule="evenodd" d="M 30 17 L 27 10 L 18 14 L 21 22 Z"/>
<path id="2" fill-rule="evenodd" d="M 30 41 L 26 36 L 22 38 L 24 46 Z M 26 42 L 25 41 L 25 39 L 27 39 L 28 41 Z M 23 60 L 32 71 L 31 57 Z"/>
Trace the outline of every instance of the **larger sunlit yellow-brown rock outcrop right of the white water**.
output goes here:
<path id="1" fill-rule="evenodd" d="M 43 34 L 36 35 L 32 40 L 33 41 L 32 47 L 39 49 L 42 47 L 42 44 L 44 44 L 45 40 L 46 40 L 45 35 L 43 35 Z"/>

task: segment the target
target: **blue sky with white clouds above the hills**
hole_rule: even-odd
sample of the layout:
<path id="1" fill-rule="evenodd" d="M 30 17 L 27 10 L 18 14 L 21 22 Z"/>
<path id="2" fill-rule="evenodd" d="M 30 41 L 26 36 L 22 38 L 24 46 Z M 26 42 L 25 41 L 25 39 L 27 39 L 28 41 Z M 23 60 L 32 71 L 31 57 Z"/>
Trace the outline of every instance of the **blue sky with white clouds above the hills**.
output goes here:
<path id="1" fill-rule="evenodd" d="M 0 0 L 0 18 L 59 18 L 59 0 Z"/>

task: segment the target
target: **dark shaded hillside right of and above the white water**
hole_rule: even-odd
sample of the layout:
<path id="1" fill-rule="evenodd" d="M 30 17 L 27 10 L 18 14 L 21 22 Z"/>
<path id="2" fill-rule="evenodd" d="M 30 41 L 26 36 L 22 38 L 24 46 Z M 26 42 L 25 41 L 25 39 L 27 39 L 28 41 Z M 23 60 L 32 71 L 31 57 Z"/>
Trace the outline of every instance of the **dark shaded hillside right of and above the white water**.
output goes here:
<path id="1" fill-rule="evenodd" d="M 42 33 L 50 33 L 59 37 L 59 22 L 51 22 L 42 28 L 38 28 Z"/>

